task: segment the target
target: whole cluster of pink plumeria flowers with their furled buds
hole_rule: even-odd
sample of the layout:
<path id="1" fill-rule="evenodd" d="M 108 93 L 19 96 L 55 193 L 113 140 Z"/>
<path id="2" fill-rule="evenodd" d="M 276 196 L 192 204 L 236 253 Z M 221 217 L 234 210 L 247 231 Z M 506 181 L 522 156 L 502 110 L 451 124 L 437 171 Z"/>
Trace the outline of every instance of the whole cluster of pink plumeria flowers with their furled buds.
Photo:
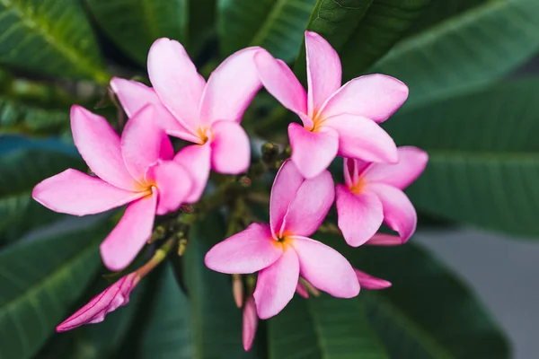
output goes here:
<path id="1" fill-rule="evenodd" d="M 383 74 L 341 86 L 340 59 L 331 45 L 306 31 L 305 48 L 307 92 L 290 68 L 263 48 L 234 53 L 207 82 L 179 42 L 157 39 L 147 63 L 153 87 L 119 78 L 110 82 L 128 115 L 121 136 L 105 118 L 79 106 L 71 110 L 75 145 L 92 174 L 66 170 L 38 184 L 33 197 L 70 215 L 128 205 L 101 245 L 106 267 L 124 270 L 151 237 L 155 215 L 197 203 L 212 170 L 235 175 L 249 169 L 251 146 L 240 123 L 263 86 L 303 126 L 288 126 L 291 156 L 271 188 L 270 223 L 250 224 L 205 258 L 209 268 L 236 277 L 258 272 L 244 305 L 243 294 L 236 293 L 243 305 L 245 350 L 258 318 L 278 314 L 294 293 L 350 298 L 360 287 L 388 287 L 389 282 L 351 267 L 338 251 L 310 236 L 333 202 L 350 246 L 401 244 L 415 231 L 417 215 L 402 189 L 420 175 L 428 156 L 418 148 L 397 148 L 379 126 L 406 100 L 408 88 Z M 190 144 L 174 153 L 169 136 Z M 327 169 L 336 156 L 344 157 L 345 180 L 335 187 Z M 398 236 L 376 233 L 382 223 Z M 57 330 L 102 321 L 126 304 L 172 245 L 167 241 L 145 266 L 123 276 Z"/>

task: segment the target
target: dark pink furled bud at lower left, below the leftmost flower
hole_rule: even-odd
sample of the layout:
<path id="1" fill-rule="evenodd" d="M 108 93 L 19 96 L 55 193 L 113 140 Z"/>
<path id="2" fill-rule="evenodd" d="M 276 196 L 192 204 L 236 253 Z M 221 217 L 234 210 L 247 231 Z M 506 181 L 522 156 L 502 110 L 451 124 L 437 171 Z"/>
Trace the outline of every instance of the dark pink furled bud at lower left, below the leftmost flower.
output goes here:
<path id="1" fill-rule="evenodd" d="M 140 277 L 137 273 L 122 276 L 118 282 L 93 297 L 83 308 L 75 311 L 71 317 L 58 325 L 57 332 L 70 330 L 84 324 L 102 322 L 110 311 L 116 311 L 119 307 L 128 304 L 129 294 L 135 289 L 139 280 Z"/>

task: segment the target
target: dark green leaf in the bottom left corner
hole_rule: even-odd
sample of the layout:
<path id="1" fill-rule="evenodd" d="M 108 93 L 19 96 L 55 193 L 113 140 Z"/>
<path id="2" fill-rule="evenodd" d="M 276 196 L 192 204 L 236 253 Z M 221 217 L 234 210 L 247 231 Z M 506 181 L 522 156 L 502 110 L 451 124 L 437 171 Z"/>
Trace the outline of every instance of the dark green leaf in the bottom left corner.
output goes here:
<path id="1" fill-rule="evenodd" d="M 0 357 L 30 358 L 54 333 L 100 267 L 105 233 L 67 232 L 0 252 Z"/>

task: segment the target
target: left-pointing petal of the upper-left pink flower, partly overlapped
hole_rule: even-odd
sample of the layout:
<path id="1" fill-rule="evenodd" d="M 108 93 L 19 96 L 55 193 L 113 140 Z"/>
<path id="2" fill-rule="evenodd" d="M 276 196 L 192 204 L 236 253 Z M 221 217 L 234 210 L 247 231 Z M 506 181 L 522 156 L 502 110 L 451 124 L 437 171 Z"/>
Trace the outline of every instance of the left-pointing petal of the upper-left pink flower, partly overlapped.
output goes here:
<path id="1" fill-rule="evenodd" d="M 155 121 L 159 127 L 172 131 L 172 133 L 177 134 L 177 137 L 186 141 L 193 141 L 193 135 L 190 134 L 188 129 L 182 127 L 180 122 L 172 116 L 172 113 L 163 106 L 153 88 L 146 86 L 144 83 L 137 83 L 137 81 L 125 80 L 119 77 L 112 77 L 110 87 L 118 96 L 118 100 L 129 118 L 146 105 L 151 104 L 155 109 Z M 197 141 L 198 136 L 194 136 L 194 140 Z"/>

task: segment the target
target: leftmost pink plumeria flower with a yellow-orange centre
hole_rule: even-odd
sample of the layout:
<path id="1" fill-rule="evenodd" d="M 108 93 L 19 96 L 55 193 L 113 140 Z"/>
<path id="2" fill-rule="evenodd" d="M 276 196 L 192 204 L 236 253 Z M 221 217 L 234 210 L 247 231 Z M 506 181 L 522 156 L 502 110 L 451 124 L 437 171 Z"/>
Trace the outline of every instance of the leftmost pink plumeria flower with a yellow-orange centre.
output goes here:
<path id="1" fill-rule="evenodd" d="M 146 106 L 128 120 L 120 137 L 105 118 L 79 106 L 71 108 L 75 145 L 97 177 L 66 170 L 40 182 L 35 200 L 53 211 L 92 215 L 129 203 L 125 214 L 102 242 L 110 270 L 128 266 L 154 226 L 155 215 L 174 211 L 190 195 L 192 180 L 172 160 L 172 144 L 155 126 L 155 109 Z"/>

